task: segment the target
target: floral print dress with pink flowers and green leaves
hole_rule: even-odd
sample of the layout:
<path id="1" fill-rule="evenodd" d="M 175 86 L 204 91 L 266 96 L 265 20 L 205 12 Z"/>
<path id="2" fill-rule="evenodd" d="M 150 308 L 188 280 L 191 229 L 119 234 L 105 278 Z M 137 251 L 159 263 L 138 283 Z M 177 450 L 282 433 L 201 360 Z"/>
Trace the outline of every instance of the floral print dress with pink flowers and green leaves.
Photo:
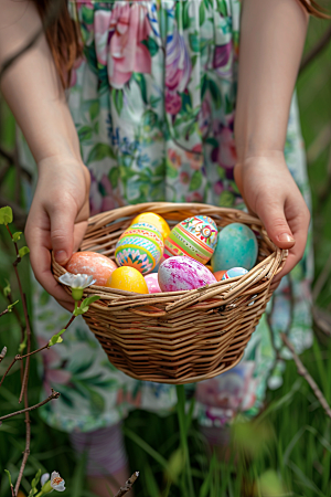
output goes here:
<path id="1" fill-rule="evenodd" d="M 244 208 L 233 177 L 238 0 L 151 0 L 70 3 L 79 21 L 84 57 L 76 63 L 68 103 L 92 177 L 90 214 L 146 201 L 206 202 Z M 287 165 L 310 203 L 296 101 L 285 148 Z M 26 159 L 28 160 L 28 159 Z M 310 241 L 303 260 L 284 278 L 231 371 L 191 385 L 196 416 L 222 426 L 241 410 L 250 416 L 267 387 L 281 383 L 285 331 L 300 352 L 311 345 Z M 41 343 L 67 314 L 35 292 Z M 61 392 L 42 416 L 65 431 L 93 431 L 140 408 L 168 413 L 174 387 L 134 380 L 107 360 L 83 319 L 43 356 L 45 392 Z"/>

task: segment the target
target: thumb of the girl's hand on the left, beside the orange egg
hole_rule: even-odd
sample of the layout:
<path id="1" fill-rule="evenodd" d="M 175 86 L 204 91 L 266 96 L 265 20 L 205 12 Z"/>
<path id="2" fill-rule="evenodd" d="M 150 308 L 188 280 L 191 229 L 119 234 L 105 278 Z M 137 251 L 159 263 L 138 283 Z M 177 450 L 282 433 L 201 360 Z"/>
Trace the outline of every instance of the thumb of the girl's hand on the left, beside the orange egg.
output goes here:
<path id="1" fill-rule="evenodd" d="M 55 261 L 64 265 L 73 254 L 75 212 L 62 205 L 53 210 L 51 218 L 51 243 Z"/>

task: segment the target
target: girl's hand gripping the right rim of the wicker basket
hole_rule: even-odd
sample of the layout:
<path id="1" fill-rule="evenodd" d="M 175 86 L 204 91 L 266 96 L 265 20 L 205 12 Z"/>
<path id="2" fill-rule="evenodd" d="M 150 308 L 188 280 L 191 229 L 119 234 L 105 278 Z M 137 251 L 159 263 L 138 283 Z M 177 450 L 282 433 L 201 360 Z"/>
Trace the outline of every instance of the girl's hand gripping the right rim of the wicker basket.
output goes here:
<path id="1" fill-rule="evenodd" d="M 234 175 L 247 208 L 261 220 L 269 239 L 289 250 L 282 271 L 273 281 L 275 289 L 303 255 L 309 210 L 281 152 L 246 158 L 235 166 Z"/>

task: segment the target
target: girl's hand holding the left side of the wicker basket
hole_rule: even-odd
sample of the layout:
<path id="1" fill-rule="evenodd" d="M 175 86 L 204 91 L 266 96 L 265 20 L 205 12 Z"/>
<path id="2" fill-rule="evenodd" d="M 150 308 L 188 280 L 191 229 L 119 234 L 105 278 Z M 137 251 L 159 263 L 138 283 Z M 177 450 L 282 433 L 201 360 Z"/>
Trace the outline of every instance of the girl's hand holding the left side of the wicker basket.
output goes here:
<path id="1" fill-rule="evenodd" d="M 51 250 L 66 264 L 82 242 L 89 215 L 89 172 L 74 159 L 51 157 L 39 163 L 39 181 L 25 226 L 32 269 L 39 283 L 66 309 L 73 299 L 51 272 Z"/>

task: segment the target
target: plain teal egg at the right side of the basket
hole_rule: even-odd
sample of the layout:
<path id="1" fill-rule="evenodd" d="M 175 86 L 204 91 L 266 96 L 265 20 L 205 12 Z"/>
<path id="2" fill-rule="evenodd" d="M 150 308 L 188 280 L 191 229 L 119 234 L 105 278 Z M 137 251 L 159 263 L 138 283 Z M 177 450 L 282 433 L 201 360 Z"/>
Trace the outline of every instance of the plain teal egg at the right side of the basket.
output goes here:
<path id="1" fill-rule="evenodd" d="M 214 273 L 232 267 L 252 269 L 256 263 L 258 245 L 250 228 L 242 223 L 232 223 L 220 231 L 217 239 L 212 257 Z"/>

